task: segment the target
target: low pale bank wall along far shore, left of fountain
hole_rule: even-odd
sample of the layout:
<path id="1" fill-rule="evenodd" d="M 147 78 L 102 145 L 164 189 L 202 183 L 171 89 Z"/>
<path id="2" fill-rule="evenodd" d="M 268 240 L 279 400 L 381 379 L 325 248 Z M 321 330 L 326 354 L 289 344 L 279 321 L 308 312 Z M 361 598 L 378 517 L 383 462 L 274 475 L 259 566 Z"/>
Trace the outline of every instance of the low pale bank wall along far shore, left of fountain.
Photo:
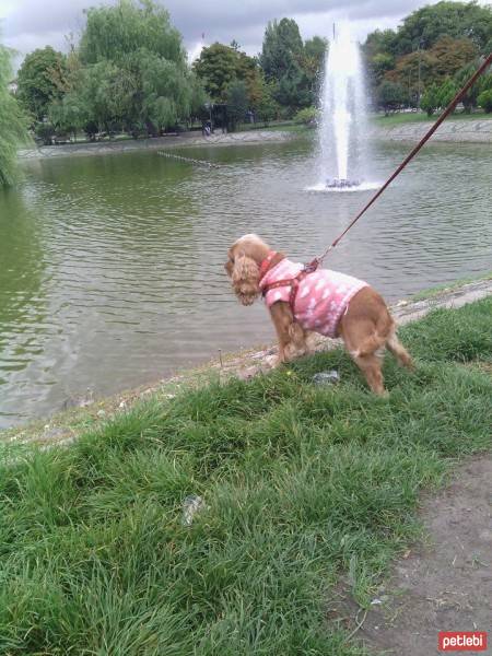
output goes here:
<path id="1" fill-rule="evenodd" d="M 216 133 L 203 137 L 197 132 L 155 139 L 126 139 L 122 141 L 96 141 L 94 143 L 66 143 L 63 145 L 39 145 L 19 151 L 21 160 L 40 160 L 78 155 L 110 155 L 140 150 L 165 150 L 196 145 L 242 145 L 244 143 L 276 143 L 292 139 L 293 132 L 283 130 L 248 130 L 246 132 Z"/>

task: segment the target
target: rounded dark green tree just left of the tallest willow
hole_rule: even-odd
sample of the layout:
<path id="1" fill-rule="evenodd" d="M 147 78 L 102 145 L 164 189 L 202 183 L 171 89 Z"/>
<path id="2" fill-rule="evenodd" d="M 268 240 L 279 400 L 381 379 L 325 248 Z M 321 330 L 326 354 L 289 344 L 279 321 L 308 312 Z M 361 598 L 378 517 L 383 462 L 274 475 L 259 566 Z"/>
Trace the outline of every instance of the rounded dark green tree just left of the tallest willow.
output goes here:
<path id="1" fill-rule="evenodd" d="M 50 46 L 34 50 L 22 62 L 17 73 L 17 97 L 36 120 L 43 120 L 49 104 L 61 97 L 57 81 L 63 78 L 65 70 L 65 56 Z"/>

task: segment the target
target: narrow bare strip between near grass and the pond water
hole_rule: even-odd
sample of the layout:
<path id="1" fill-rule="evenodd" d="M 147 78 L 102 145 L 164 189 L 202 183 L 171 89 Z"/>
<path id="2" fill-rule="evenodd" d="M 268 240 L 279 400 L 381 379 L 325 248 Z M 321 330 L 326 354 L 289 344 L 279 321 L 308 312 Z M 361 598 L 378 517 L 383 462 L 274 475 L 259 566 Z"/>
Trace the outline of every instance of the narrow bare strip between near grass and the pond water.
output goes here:
<path id="1" fill-rule="evenodd" d="M 437 308 L 457 308 L 492 295 L 492 274 L 485 279 L 457 283 L 454 286 L 430 290 L 421 296 L 400 301 L 390 307 L 399 326 L 415 321 L 429 312 Z M 265 320 L 268 320 L 265 317 Z M 336 349 L 340 340 L 313 336 L 312 347 L 315 352 Z M 56 444 L 70 444 L 86 431 L 114 419 L 117 414 L 129 410 L 139 401 L 155 398 L 167 401 L 184 389 L 195 389 L 216 379 L 227 380 L 233 377 L 249 379 L 258 374 L 271 371 L 277 358 L 277 347 L 250 349 L 241 354 L 221 354 L 221 358 L 201 368 L 185 372 L 181 375 L 162 379 L 137 389 L 126 390 L 105 399 L 72 399 L 73 408 L 52 415 L 50 419 L 36 420 L 26 426 L 16 426 L 0 431 L 0 447 L 5 445 L 42 445 L 49 447 Z"/>

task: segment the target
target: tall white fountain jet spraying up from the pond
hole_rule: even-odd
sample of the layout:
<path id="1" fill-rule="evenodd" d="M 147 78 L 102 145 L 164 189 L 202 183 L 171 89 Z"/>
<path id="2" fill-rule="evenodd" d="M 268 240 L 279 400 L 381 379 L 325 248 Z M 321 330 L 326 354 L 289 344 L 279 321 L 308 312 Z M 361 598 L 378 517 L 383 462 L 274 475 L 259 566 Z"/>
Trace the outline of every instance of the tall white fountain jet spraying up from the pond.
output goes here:
<path id="1" fill-rule="evenodd" d="M 337 26 L 325 59 L 319 127 L 321 184 L 354 188 L 365 177 L 367 122 L 359 45 L 348 23 Z"/>

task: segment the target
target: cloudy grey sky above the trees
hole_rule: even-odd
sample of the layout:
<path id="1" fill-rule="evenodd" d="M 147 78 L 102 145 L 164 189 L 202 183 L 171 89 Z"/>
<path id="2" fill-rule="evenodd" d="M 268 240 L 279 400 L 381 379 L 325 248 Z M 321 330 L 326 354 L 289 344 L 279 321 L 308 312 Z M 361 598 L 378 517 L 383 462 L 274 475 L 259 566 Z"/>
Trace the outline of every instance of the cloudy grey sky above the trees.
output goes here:
<path id="1" fill-rule="evenodd" d="M 303 38 L 328 36 L 333 21 L 349 19 L 359 39 L 376 27 L 396 27 L 408 13 L 437 0 L 164 0 L 172 23 L 183 34 L 191 57 L 202 44 L 232 39 L 249 55 L 261 49 L 268 21 L 297 21 Z M 0 0 L 0 30 L 5 45 L 20 52 L 51 45 L 67 50 L 66 35 L 84 25 L 82 10 L 115 0 Z M 485 4 L 487 0 L 480 2 Z M 204 39 L 202 35 L 204 34 Z"/>

